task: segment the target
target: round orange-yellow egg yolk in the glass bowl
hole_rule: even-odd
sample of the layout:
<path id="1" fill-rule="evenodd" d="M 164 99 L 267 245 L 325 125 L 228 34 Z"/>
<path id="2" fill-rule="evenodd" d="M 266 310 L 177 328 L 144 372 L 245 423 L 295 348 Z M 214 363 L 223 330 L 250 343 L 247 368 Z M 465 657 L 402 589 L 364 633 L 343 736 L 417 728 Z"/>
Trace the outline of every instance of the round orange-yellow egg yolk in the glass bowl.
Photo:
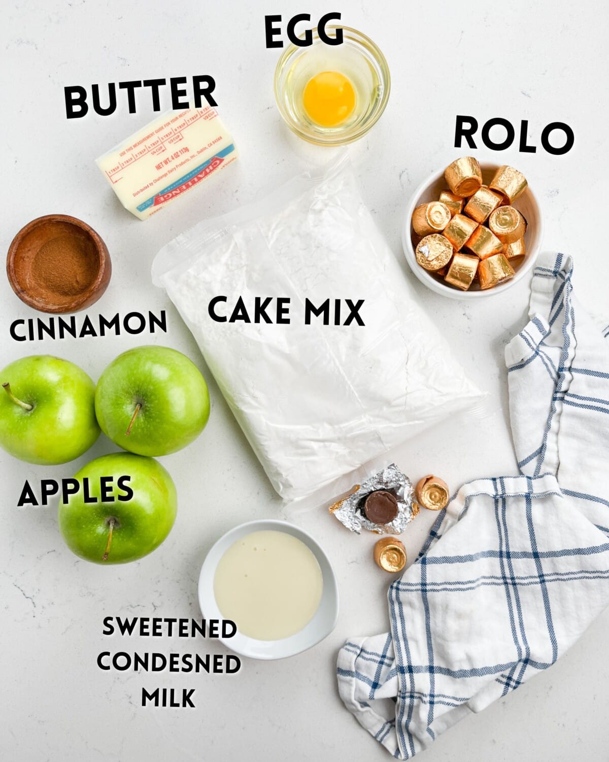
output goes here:
<path id="1" fill-rule="evenodd" d="M 307 82 L 302 104 L 308 117 L 322 127 L 344 122 L 356 107 L 356 91 L 340 72 L 320 72 Z"/>

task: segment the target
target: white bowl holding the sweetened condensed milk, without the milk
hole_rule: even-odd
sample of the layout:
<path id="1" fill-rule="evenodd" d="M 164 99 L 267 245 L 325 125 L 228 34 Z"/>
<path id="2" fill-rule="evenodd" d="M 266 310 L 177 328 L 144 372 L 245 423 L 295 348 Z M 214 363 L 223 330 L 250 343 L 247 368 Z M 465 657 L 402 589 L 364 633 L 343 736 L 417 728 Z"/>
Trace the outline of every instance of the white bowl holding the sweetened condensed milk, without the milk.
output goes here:
<path id="1" fill-rule="evenodd" d="M 324 590 L 321 600 L 313 619 L 295 635 L 282 640 L 257 640 L 248 638 L 237 632 L 232 638 L 220 639 L 231 651 L 253 659 L 282 659 L 286 656 L 294 656 L 307 648 L 311 648 L 325 637 L 336 626 L 338 619 L 339 597 L 338 585 L 330 560 L 310 534 L 295 527 L 287 521 L 264 519 L 248 521 L 234 527 L 212 547 L 207 554 L 199 575 L 199 606 L 203 616 L 208 620 L 221 620 L 222 613 L 218 609 L 214 594 L 214 577 L 218 562 L 240 537 L 252 532 L 275 531 L 285 532 L 300 539 L 311 550 L 321 569 L 324 581 Z"/>

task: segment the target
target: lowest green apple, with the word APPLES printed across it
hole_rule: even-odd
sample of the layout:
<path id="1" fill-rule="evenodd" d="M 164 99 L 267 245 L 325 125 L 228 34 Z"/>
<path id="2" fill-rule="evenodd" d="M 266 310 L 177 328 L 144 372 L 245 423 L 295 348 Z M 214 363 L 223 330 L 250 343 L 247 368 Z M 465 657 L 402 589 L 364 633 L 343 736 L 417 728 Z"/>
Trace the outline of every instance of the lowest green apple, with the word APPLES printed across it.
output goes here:
<path id="1" fill-rule="evenodd" d="M 176 488 L 167 469 L 152 458 L 104 455 L 74 479 L 78 491 L 59 502 L 59 530 L 81 559 L 98 564 L 141 559 L 174 526 Z"/>

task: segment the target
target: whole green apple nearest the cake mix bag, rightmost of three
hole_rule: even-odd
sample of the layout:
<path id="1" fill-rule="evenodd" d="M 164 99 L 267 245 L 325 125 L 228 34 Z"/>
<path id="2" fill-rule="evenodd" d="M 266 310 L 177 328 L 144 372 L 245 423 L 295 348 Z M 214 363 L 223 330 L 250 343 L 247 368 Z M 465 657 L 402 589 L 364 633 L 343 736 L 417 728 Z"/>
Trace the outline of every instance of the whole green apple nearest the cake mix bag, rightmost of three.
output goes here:
<path id="1" fill-rule="evenodd" d="M 202 432 L 209 392 L 186 355 L 168 347 L 136 347 L 101 374 L 95 412 L 104 434 L 124 450 L 168 455 Z"/>

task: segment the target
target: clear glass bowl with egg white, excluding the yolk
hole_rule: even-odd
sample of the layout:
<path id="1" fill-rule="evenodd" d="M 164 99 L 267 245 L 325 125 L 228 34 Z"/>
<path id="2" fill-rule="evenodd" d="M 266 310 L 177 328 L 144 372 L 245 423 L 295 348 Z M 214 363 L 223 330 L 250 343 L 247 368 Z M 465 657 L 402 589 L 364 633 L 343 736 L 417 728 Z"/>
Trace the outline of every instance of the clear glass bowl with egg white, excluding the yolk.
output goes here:
<path id="1" fill-rule="evenodd" d="M 381 117 L 391 86 L 387 61 L 375 43 L 349 27 L 326 27 L 330 37 L 336 34 L 336 29 L 343 30 L 341 45 L 323 43 L 314 29 L 311 46 L 288 46 L 275 70 L 279 113 L 293 132 L 318 146 L 343 146 L 364 136 Z M 305 85 L 311 77 L 324 71 L 341 72 L 356 91 L 352 114 L 332 127 L 314 123 L 302 104 Z"/>

